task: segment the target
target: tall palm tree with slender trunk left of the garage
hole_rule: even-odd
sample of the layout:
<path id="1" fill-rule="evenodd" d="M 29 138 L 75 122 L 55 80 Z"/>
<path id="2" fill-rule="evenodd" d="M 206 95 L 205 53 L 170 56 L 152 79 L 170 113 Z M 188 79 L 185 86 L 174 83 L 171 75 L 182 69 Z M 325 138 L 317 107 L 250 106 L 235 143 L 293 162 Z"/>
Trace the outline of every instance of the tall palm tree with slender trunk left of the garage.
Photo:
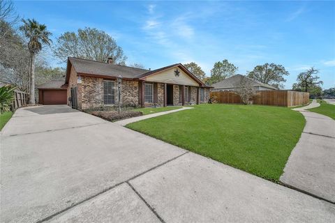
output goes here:
<path id="1" fill-rule="evenodd" d="M 28 49 L 30 52 L 29 74 L 30 74 L 30 104 L 35 104 L 35 59 L 43 44 L 50 45 L 51 33 L 47 31 L 45 24 L 39 24 L 36 20 L 22 20 L 24 23 L 20 26 L 24 36 L 28 38 Z"/>

